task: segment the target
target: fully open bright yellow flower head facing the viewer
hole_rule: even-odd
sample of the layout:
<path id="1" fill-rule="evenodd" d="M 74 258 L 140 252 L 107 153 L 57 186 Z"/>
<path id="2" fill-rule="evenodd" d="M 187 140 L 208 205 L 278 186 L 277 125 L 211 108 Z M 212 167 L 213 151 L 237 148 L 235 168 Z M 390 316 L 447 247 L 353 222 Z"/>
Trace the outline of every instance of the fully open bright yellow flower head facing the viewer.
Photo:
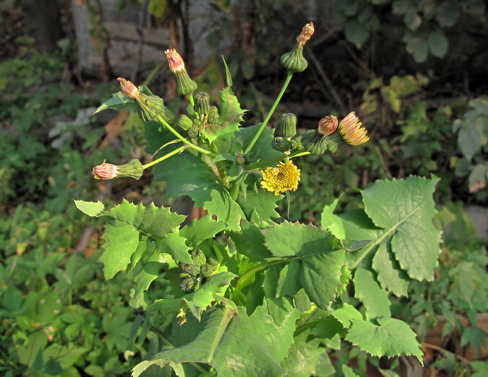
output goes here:
<path id="1" fill-rule="evenodd" d="M 274 191 L 275 195 L 280 192 L 288 190 L 295 191 L 300 182 L 300 169 L 298 169 L 291 161 L 280 162 L 280 165 L 274 168 L 266 168 L 261 170 L 263 174 L 263 181 L 261 187 L 268 191 Z"/>

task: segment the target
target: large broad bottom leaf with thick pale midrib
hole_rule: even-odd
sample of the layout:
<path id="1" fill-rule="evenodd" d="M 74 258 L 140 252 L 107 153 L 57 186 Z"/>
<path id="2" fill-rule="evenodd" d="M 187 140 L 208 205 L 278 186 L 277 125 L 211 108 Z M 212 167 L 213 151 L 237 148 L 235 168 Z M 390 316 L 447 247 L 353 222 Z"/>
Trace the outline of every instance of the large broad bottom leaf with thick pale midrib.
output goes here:
<path id="1" fill-rule="evenodd" d="M 298 313 L 290 313 L 277 326 L 263 306 L 249 316 L 239 309 L 239 315 L 232 318 L 229 311 L 213 309 L 202 316 L 201 322 L 189 319 L 175 330 L 175 338 L 196 334 L 191 341 L 142 361 L 132 370 L 132 376 L 140 376 L 150 365 L 175 369 L 182 362 L 210 364 L 219 376 L 283 376 L 285 370 L 280 364 L 293 343 Z"/>

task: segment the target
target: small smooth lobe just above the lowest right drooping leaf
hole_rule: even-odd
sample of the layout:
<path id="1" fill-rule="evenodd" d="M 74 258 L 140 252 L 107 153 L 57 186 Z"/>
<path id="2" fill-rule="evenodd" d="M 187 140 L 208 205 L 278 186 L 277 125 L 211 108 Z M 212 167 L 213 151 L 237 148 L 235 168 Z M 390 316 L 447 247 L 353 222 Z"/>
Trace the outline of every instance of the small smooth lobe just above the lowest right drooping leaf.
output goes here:
<path id="1" fill-rule="evenodd" d="M 366 319 L 390 316 L 388 293 L 381 289 L 370 271 L 358 267 L 354 272 L 354 290 L 366 307 Z"/>

